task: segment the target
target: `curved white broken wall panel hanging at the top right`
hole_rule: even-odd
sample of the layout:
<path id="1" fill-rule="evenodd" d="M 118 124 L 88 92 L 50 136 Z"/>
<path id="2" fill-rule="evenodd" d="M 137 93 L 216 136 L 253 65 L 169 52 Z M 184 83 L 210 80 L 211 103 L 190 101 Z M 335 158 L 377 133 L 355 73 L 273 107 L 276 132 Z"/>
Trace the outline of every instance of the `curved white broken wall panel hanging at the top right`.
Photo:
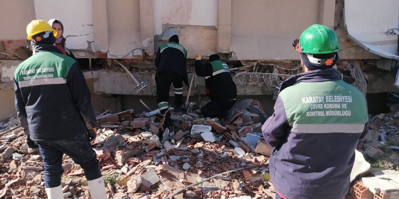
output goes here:
<path id="1" fill-rule="evenodd" d="M 345 0 L 344 12 L 351 39 L 371 53 L 399 59 L 398 35 L 385 33 L 398 28 L 399 1 Z"/>

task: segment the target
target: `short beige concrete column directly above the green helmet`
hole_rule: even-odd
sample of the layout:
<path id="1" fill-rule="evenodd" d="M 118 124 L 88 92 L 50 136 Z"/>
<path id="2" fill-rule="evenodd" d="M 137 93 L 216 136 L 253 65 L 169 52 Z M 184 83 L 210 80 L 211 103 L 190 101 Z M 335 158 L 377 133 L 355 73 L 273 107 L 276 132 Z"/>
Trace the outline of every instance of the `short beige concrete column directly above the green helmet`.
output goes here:
<path id="1" fill-rule="evenodd" d="M 327 27 L 334 27 L 335 1 L 320 0 L 319 24 Z"/>

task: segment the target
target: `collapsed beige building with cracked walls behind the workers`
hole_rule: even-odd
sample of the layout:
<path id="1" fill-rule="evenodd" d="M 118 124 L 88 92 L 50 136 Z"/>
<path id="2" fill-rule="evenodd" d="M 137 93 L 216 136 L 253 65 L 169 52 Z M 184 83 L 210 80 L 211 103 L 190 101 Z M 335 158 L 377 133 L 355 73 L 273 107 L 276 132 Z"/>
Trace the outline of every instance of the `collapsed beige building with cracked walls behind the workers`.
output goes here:
<path id="1" fill-rule="evenodd" d="M 18 64 L 32 54 L 25 29 L 34 19 L 63 21 L 67 47 L 79 59 L 89 87 L 96 94 L 93 104 L 97 110 L 144 109 L 138 100 L 150 100 L 145 96 L 156 93 L 156 49 L 174 34 L 188 50 L 189 77 L 195 76 L 196 53 L 204 57 L 217 53 L 229 64 L 239 96 L 266 95 L 262 98 L 273 103 L 276 86 L 300 72 L 299 55 L 290 43 L 314 23 L 336 31 L 342 48 L 338 68 L 344 79 L 370 97 L 397 91 L 399 14 L 395 0 L 308 0 L 300 5 L 261 0 L 71 0 L 59 4 L 62 9 L 51 8 L 44 0 L 16 0 L 2 6 L 0 15 L 7 20 L 0 24 L 0 105 L 4 107 L 0 118 L 15 113 L 12 77 Z M 299 14 L 298 9 L 306 15 Z M 141 83 L 148 86 L 137 90 Z M 203 78 L 195 78 L 190 96 L 206 98 L 204 85 Z M 184 96 L 187 94 L 185 87 Z M 156 106 L 151 101 L 146 103 Z"/>

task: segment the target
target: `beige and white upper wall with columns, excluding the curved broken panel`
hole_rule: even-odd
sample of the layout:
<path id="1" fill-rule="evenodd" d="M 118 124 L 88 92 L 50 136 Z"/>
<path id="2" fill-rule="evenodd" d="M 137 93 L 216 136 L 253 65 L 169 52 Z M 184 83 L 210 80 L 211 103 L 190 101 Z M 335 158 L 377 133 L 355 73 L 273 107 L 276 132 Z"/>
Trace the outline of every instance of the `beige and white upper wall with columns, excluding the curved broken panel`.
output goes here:
<path id="1" fill-rule="evenodd" d="M 379 58 L 347 37 L 343 0 L 1 1 L 7 6 L 0 8 L 0 18 L 6 19 L 0 29 L 7 31 L 0 32 L 0 39 L 25 39 L 29 21 L 58 18 L 65 25 L 67 47 L 78 57 L 142 59 L 154 56 L 177 33 L 188 58 L 231 53 L 231 60 L 299 59 L 292 40 L 320 23 L 336 29 L 342 59 Z"/>

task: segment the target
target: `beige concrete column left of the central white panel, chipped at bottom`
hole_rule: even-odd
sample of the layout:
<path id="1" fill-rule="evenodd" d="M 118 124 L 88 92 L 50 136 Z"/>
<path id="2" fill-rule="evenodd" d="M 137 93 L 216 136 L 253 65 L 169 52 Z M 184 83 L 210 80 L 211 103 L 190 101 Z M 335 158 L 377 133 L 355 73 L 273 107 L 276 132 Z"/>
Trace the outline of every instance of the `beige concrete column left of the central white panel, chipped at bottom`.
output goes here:
<path id="1" fill-rule="evenodd" d="M 140 0 L 141 46 L 148 56 L 154 56 L 154 0 Z"/>

